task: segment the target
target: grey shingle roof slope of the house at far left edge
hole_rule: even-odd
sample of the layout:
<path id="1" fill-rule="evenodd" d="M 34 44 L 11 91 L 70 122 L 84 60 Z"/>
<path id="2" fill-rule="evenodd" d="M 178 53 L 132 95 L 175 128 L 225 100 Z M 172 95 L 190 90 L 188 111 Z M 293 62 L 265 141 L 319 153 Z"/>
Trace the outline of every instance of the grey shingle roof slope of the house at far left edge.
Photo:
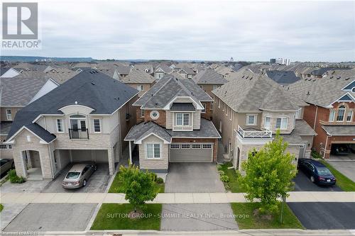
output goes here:
<path id="1" fill-rule="evenodd" d="M 46 78 L 0 78 L 0 106 L 26 106 L 48 81 Z"/>

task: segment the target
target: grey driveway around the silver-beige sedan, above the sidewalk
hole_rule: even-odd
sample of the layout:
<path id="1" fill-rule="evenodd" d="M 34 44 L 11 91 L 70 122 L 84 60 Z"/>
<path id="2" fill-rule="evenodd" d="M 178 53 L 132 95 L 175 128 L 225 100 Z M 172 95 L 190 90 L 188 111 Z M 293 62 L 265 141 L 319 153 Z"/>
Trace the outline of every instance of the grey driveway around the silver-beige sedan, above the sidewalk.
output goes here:
<path id="1" fill-rule="evenodd" d="M 87 186 L 80 189 L 63 189 L 62 180 L 73 164 L 69 164 L 53 181 L 45 186 L 43 193 L 104 193 L 109 184 L 109 164 L 97 163 L 97 170 L 87 180 Z"/>

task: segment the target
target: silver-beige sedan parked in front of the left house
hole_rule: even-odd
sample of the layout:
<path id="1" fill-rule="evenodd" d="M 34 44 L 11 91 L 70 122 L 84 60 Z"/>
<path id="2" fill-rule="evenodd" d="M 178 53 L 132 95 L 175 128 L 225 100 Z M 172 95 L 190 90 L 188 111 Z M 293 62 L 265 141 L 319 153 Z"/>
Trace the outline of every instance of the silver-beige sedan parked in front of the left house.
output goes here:
<path id="1" fill-rule="evenodd" d="M 94 162 L 75 164 L 65 175 L 62 181 L 64 189 L 78 189 L 87 185 L 89 177 L 97 170 Z"/>

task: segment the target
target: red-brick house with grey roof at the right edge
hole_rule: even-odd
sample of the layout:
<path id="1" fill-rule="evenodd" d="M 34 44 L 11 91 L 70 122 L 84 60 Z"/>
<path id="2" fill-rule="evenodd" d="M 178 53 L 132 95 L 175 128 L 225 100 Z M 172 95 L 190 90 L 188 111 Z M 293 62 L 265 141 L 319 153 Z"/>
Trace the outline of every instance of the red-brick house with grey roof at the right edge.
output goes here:
<path id="1" fill-rule="evenodd" d="M 320 79 L 302 79 L 288 90 L 309 106 L 304 119 L 317 132 L 313 148 L 332 158 L 332 145 L 355 145 L 355 72 L 337 69 Z"/>

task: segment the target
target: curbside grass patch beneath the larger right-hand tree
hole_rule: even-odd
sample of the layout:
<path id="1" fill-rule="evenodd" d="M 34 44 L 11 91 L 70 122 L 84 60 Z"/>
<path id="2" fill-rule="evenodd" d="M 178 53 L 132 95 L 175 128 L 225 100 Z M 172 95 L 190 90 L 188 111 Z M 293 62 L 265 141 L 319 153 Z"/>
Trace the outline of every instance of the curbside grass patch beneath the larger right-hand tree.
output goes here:
<path id="1" fill-rule="evenodd" d="M 260 203 L 231 203 L 236 222 L 240 229 L 303 229 L 304 227 L 290 210 L 287 204 L 283 211 L 283 224 L 280 224 L 280 211 L 275 213 L 271 220 L 253 215 L 253 210 L 258 208 Z M 279 209 L 281 204 L 279 206 Z"/>

